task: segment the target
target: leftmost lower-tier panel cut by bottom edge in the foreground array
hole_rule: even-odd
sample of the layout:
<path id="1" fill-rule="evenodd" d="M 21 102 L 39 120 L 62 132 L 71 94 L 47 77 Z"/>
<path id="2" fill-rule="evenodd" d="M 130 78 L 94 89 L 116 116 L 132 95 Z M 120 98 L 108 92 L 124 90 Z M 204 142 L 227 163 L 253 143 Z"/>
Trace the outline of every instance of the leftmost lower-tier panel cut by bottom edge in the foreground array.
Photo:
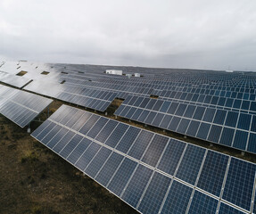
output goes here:
<path id="1" fill-rule="evenodd" d="M 138 210 L 142 213 L 157 213 L 169 187 L 170 180 L 171 178 L 155 172 L 143 196 L 142 202 L 139 204 Z"/>

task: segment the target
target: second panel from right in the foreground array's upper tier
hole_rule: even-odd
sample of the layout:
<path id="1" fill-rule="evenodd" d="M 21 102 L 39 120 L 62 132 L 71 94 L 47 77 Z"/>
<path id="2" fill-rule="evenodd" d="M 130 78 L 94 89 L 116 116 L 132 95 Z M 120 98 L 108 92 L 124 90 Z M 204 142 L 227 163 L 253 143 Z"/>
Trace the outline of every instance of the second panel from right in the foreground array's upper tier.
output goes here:
<path id="1" fill-rule="evenodd" d="M 227 169 L 227 161 L 227 155 L 207 152 L 197 186 L 208 193 L 219 196 Z"/>

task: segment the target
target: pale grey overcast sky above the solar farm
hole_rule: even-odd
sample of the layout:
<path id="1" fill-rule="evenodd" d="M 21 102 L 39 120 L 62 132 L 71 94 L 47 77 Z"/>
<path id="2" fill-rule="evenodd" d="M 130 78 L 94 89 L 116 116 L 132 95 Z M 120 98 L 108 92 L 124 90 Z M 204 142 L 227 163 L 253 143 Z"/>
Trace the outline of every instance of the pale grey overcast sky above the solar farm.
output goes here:
<path id="1" fill-rule="evenodd" d="M 256 70 L 255 0 L 0 0 L 0 61 Z"/>

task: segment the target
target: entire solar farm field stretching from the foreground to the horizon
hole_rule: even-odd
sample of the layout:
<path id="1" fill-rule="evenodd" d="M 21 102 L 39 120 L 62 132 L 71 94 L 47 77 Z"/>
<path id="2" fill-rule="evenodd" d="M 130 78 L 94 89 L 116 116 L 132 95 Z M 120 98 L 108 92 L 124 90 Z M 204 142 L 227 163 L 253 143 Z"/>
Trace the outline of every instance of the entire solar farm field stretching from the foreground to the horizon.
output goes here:
<path id="1" fill-rule="evenodd" d="M 21 174 L 18 189 L 44 195 L 29 198 L 30 212 L 255 213 L 255 73 L 35 62 L 0 71 L 1 183 Z"/>

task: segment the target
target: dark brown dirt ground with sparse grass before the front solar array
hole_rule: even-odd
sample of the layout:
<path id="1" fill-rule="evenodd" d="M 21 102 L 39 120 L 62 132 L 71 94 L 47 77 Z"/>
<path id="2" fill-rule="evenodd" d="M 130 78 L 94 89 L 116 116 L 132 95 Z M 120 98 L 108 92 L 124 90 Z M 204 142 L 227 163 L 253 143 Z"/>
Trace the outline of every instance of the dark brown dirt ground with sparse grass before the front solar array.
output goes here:
<path id="1" fill-rule="evenodd" d="M 136 210 L 0 115 L 0 213 Z"/>

